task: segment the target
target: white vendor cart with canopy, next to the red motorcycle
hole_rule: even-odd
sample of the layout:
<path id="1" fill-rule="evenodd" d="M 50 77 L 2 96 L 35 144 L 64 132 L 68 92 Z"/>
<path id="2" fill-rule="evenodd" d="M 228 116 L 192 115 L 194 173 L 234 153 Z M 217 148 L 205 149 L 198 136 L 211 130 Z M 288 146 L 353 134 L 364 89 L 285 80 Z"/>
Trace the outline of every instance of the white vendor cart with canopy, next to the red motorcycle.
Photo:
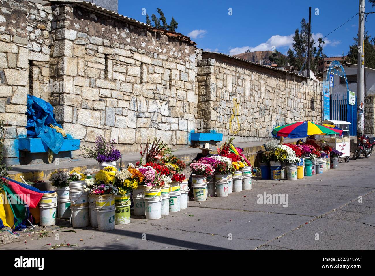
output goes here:
<path id="1" fill-rule="evenodd" d="M 345 162 L 349 162 L 350 157 L 350 135 L 349 135 L 349 125 L 350 122 L 346 121 L 336 121 L 336 120 L 325 120 L 320 122 L 321 125 L 335 126 L 342 130 L 342 136 L 339 137 L 337 134 L 330 134 L 329 137 L 323 137 L 326 145 L 331 148 L 342 152 L 341 158 L 344 158 Z"/>

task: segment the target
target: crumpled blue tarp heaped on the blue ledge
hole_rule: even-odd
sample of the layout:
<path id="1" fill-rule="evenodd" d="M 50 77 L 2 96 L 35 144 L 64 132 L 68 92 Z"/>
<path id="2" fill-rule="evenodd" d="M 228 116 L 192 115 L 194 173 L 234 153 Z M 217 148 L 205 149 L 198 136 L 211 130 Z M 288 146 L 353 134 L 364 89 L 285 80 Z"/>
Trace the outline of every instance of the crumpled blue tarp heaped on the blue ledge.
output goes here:
<path id="1" fill-rule="evenodd" d="M 57 124 L 53 107 L 46 101 L 27 95 L 27 137 L 42 139 L 54 154 L 58 154 L 63 145 L 64 137 L 55 129 L 48 127 L 49 124 L 62 128 Z"/>

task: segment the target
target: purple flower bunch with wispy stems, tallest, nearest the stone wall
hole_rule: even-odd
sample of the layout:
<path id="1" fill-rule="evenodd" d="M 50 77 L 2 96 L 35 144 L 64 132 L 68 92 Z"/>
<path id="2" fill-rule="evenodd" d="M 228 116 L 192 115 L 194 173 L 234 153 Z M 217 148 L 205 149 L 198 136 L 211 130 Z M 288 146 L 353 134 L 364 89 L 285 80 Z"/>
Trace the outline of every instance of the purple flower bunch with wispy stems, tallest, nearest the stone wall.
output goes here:
<path id="1" fill-rule="evenodd" d="M 117 161 L 120 158 L 121 153 L 115 147 L 115 140 L 106 142 L 105 138 L 98 135 L 95 141 L 95 146 L 90 148 L 88 146 L 83 146 L 83 153 L 80 154 L 83 158 L 93 158 L 98 163 L 108 163 Z"/>

